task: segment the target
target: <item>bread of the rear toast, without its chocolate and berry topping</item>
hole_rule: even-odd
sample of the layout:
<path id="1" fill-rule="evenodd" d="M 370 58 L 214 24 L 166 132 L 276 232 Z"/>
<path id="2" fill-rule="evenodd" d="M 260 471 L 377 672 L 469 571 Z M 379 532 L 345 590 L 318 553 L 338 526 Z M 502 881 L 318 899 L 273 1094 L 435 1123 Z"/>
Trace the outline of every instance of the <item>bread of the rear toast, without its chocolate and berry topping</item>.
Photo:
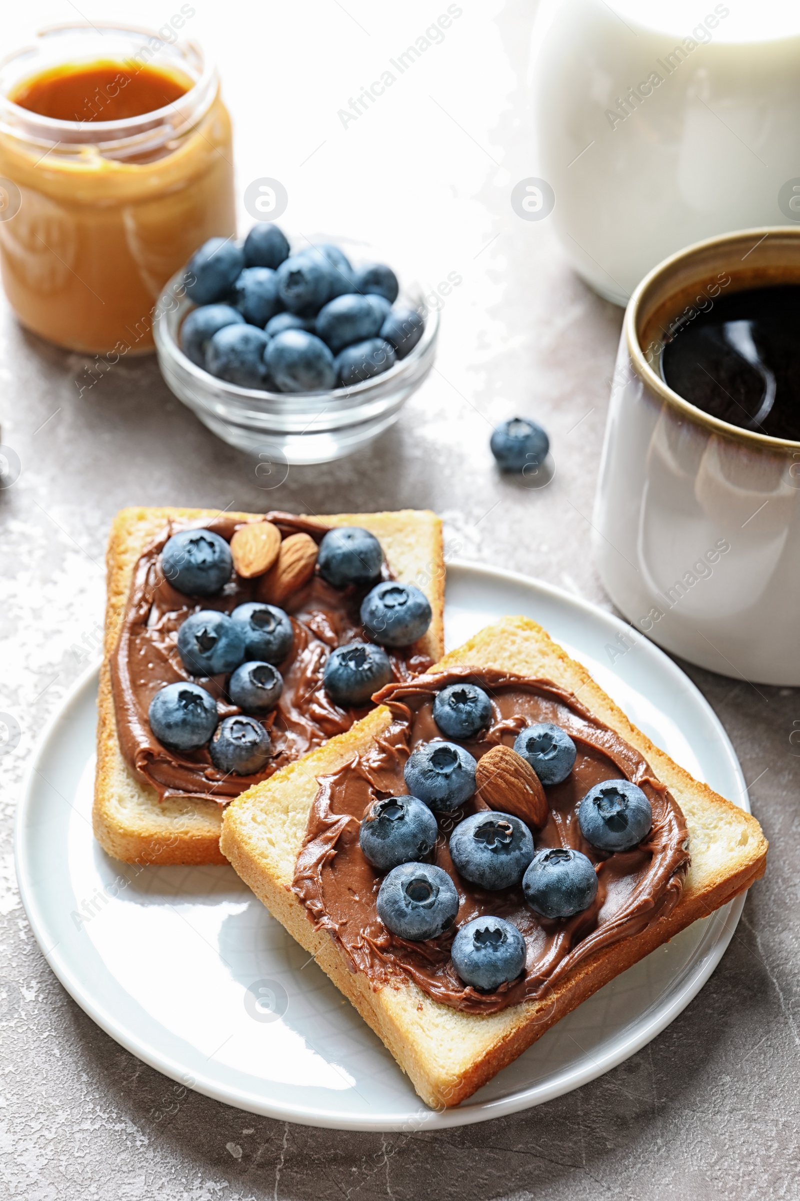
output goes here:
<path id="1" fill-rule="evenodd" d="M 95 837 L 115 859 L 133 864 L 227 864 L 219 850 L 222 808 L 217 801 L 158 800 L 155 789 L 136 778 L 120 751 L 112 694 L 110 656 L 125 619 L 136 564 L 145 546 L 169 520 L 201 522 L 212 509 L 130 508 L 112 525 L 108 551 L 108 598 L 103 663 L 97 698 L 97 772 L 92 824 Z M 237 521 L 261 521 L 261 513 L 227 513 Z M 444 650 L 444 557 L 441 522 L 427 509 L 396 513 L 339 513 L 315 520 L 331 526 L 357 525 L 381 544 L 397 578 L 416 584 L 427 596 L 433 620 L 420 640 L 432 659 Z"/>

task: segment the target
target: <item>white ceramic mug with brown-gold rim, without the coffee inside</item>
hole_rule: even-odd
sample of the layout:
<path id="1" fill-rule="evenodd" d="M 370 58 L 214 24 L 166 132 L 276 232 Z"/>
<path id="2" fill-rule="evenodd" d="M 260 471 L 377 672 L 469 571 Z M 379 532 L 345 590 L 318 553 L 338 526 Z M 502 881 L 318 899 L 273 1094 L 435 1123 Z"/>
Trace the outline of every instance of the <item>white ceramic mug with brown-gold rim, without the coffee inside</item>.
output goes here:
<path id="1" fill-rule="evenodd" d="M 800 686 L 800 442 L 696 408 L 664 383 L 678 318 L 800 285 L 800 228 L 750 229 L 656 267 L 625 313 L 594 518 L 600 574 L 639 634 L 691 663 Z M 607 647 L 610 662 L 636 641 Z"/>

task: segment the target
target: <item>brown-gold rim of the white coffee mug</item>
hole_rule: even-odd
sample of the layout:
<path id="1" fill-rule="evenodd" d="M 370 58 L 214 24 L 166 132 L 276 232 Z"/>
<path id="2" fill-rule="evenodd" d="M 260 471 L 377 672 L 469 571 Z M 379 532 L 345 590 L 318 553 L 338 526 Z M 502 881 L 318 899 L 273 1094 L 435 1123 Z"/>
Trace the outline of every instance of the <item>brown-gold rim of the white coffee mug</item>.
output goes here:
<path id="1" fill-rule="evenodd" d="M 735 282 L 736 269 L 732 267 L 732 251 L 745 250 L 746 253 L 740 258 L 740 262 L 745 262 L 750 255 L 754 253 L 760 245 L 766 241 L 770 237 L 778 237 L 783 239 L 790 239 L 796 243 L 798 247 L 798 282 L 800 283 L 800 226 L 762 226 L 754 229 L 736 229 L 734 233 L 720 234 L 716 238 L 705 238 L 703 241 L 696 241 L 691 246 L 686 246 L 684 250 L 679 250 L 675 255 L 670 255 L 669 258 L 662 259 L 657 267 L 654 267 L 649 271 L 640 283 L 637 285 L 631 299 L 627 303 L 625 310 L 625 341 L 627 343 L 628 359 L 631 366 L 639 376 L 643 383 L 648 386 L 650 392 L 654 392 L 662 400 L 666 400 L 673 408 L 676 408 L 684 417 L 690 418 L 690 420 L 696 422 L 698 425 L 705 425 L 716 434 L 723 434 L 726 437 L 734 438 L 738 442 L 746 442 L 748 444 L 756 443 L 759 447 L 770 447 L 774 449 L 786 449 L 786 450 L 798 450 L 800 448 L 800 442 L 794 442 L 790 438 L 775 438 L 769 434 L 757 434 L 754 430 L 745 430 L 740 425 L 732 425 L 729 422 L 722 422 L 718 417 L 711 417 L 710 413 L 704 413 L 702 408 L 697 408 L 696 405 L 691 405 L 682 396 L 679 396 L 676 392 L 664 383 L 660 375 L 652 370 L 650 364 L 646 362 L 642 346 L 639 343 L 639 318 L 642 316 L 642 309 L 644 301 L 649 298 L 650 293 L 656 292 L 656 288 L 668 283 L 669 277 L 674 276 L 680 267 L 682 267 L 687 261 L 700 259 L 706 251 L 712 251 L 718 249 L 721 251 L 718 262 L 715 264 L 726 273 L 730 275 L 732 282 Z M 722 253 L 726 252 L 726 253 Z M 741 270 L 744 276 L 747 271 L 752 270 L 758 259 L 754 259 L 748 268 Z M 698 282 L 700 276 L 698 276 Z M 684 287 L 686 287 L 687 281 L 684 281 Z M 694 286 L 694 285 L 693 285 Z M 734 291 L 739 291 L 734 288 Z"/>

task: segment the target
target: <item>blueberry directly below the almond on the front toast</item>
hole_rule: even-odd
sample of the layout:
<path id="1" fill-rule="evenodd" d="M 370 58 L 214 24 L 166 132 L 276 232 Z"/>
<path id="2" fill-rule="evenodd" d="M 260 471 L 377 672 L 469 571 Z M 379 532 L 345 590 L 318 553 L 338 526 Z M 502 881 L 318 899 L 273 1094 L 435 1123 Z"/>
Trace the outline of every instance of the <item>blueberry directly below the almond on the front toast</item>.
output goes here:
<path id="1" fill-rule="evenodd" d="M 465 880 L 482 889 L 510 889 L 534 858 L 534 837 L 519 818 L 483 809 L 456 826 L 450 856 Z"/>

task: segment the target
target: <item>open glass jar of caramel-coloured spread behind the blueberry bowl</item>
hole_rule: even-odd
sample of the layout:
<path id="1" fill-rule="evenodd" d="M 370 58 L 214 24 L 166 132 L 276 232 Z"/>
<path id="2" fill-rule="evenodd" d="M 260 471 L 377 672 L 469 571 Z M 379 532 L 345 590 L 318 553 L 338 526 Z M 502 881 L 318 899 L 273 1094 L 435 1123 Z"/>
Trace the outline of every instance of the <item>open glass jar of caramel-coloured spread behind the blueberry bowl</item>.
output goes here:
<path id="1" fill-rule="evenodd" d="M 154 112 L 106 121 L 110 85 L 86 98 L 88 120 L 42 116 L 10 98 L 47 72 L 109 62 L 126 77 L 145 67 L 170 73 L 187 90 Z M 217 73 L 194 43 L 172 42 L 164 29 L 62 25 L 2 60 L 0 177 L 6 294 L 23 325 L 72 351 L 151 351 L 167 280 L 206 238 L 235 232 L 230 119 Z"/>

